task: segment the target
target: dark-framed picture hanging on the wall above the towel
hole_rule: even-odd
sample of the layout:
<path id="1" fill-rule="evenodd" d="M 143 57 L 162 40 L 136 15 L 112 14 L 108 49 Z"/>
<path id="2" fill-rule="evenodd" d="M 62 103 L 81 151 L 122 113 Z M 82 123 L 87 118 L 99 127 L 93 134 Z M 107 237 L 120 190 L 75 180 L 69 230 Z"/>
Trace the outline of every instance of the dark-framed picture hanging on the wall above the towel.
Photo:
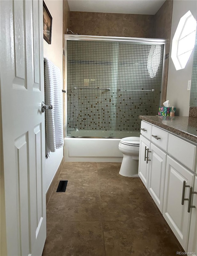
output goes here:
<path id="1" fill-rule="evenodd" d="M 51 44 L 52 16 L 43 1 L 43 36 L 48 44 Z"/>

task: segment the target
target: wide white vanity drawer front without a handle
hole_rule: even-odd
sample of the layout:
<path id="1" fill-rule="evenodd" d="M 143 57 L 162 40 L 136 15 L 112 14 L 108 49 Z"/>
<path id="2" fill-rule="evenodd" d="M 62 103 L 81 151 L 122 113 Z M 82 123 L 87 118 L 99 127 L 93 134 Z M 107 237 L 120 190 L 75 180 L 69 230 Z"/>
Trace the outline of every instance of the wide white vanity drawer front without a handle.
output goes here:
<path id="1" fill-rule="evenodd" d="M 169 134 L 167 152 L 183 163 L 189 169 L 194 170 L 196 146 Z M 194 170 L 195 171 L 195 170 Z"/>

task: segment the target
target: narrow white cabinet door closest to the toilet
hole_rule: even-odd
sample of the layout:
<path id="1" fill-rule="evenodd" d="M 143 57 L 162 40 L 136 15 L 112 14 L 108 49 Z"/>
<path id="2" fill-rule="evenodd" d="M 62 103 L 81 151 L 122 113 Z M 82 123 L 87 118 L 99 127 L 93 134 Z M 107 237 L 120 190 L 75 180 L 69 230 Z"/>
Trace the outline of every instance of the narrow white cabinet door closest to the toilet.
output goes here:
<path id="1" fill-rule="evenodd" d="M 150 150 L 151 142 L 140 135 L 139 143 L 139 169 L 138 174 L 144 183 L 145 187 L 148 188 L 148 171 L 149 171 L 149 162 L 147 163 L 147 150 Z M 150 153 L 148 153 L 150 156 Z"/>

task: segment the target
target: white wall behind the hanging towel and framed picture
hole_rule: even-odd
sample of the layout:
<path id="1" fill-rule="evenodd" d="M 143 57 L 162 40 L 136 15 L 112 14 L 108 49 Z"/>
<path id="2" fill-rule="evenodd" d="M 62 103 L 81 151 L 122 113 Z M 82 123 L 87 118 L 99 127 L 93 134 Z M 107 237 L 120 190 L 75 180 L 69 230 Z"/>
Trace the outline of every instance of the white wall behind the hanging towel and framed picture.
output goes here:
<path id="1" fill-rule="evenodd" d="M 63 62 L 62 62 L 62 31 L 63 31 L 63 0 L 45 0 L 46 6 L 53 18 L 51 44 L 44 40 L 44 57 L 47 57 L 55 65 L 57 65 L 62 73 L 62 89 L 63 89 Z M 63 97 L 62 97 L 63 98 Z M 47 104 L 47 103 L 46 103 Z M 63 103 L 62 103 L 63 107 Z M 50 157 L 45 162 L 45 191 L 58 170 L 58 166 L 63 157 L 63 149 L 57 149 L 51 152 Z"/>

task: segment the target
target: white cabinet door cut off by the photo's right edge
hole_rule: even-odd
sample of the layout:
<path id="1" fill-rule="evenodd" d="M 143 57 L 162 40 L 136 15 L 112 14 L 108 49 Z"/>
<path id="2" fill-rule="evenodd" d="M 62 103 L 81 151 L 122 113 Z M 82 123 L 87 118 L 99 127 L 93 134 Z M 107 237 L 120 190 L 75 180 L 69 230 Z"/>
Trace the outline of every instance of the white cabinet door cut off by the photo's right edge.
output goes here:
<path id="1" fill-rule="evenodd" d="M 197 177 L 195 177 L 193 191 L 197 191 Z M 190 236 L 187 252 L 195 252 L 195 254 L 197 254 L 197 194 L 193 194 L 192 205 L 194 205 L 195 208 L 191 209 Z"/>

